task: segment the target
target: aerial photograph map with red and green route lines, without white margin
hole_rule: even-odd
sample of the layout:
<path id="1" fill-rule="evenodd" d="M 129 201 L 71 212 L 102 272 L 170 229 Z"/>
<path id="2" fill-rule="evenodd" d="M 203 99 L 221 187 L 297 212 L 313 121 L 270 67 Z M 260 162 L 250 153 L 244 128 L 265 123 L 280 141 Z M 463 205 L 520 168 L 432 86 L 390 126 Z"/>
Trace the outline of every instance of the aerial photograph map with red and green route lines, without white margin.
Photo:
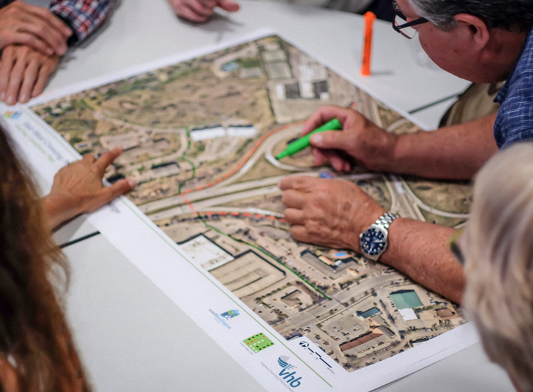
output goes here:
<path id="1" fill-rule="evenodd" d="M 295 242 L 277 183 L 354 182 L 402 217 L 460 227 L 469 184 L 313 166 L 275 156 L 322 105 L 352 107 L 394 133 L 417 126 L 280 37 L 263 37 L 32 107 L 79 153 L 124 146 L 107 179 L 287 340 L 306 336 L 348 372 L 465 323 L 461 309 L 347 249 Z"/>

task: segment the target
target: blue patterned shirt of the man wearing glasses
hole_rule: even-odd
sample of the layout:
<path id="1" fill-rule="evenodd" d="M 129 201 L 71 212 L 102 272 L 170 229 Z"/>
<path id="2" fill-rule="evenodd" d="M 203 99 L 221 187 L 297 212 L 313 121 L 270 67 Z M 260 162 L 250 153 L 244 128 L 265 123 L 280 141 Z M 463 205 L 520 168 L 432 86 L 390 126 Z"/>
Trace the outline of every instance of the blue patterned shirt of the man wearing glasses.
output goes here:
<path id="1" fill-rule="evenodd" d="M 499 148 L 533 140 L 533 30 L 507 82 L 496 96 L 501 107 L 494 124 Z"/>

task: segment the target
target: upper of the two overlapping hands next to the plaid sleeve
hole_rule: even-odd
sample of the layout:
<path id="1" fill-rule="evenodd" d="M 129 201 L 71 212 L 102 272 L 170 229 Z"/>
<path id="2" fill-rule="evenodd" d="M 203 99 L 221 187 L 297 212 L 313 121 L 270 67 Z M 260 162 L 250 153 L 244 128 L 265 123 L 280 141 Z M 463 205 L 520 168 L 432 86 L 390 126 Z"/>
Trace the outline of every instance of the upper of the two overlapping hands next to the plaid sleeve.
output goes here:
<path id="1" fill-rule="evenodd" d="M 16 0 L 0 9 L 0 49 L 26 44 L 48 55 L 62 56 L 72 30 L 47 8 Z"/>

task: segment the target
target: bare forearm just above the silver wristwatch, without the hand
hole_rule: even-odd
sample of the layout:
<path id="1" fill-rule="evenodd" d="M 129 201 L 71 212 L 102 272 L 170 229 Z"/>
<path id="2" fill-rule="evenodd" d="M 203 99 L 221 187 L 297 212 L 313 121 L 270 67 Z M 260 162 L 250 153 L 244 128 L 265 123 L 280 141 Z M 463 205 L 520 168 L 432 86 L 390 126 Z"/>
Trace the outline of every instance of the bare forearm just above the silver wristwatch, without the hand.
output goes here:
<path id="1" fill-rule="evenodd" d="M 389 247 L 381 261 L 424 287 L 460 303 L 465 288 L 463 268 L 450 249 L 455 230 L 419 220 L 399 218 L 390 225 Z"/>

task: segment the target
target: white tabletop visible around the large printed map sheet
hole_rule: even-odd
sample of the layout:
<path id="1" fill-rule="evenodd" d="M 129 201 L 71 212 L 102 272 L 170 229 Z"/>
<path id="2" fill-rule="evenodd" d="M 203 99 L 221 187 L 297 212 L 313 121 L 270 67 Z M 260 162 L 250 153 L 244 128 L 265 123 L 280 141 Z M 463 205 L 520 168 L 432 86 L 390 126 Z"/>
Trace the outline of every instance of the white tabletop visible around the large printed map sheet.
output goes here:
<path id="1" fill-rule="evenodd" d="M 47 90 L 169 54 L 274 28 L 389 105 L 409 112 L 460 93 L 467 82 L 418 66 L 409 40 L 377 22 L 373 76 L 359 76 L 363 22 L 320 8 L 241 1 L 241 11 L 204 25 L 177 20 L 164 0 L 122 0 L 107 26 L 71 52 Z M 431 129 L 447 104 L 417 112 Z M 72 266 L 68 319 L 95 391 L 264 391 L 208 335 L 84 219 L 58 233 Z M 92 237 L 83 241 L 78 239 Z M 513 391 L 480 345 L 383 391 Z"/>

